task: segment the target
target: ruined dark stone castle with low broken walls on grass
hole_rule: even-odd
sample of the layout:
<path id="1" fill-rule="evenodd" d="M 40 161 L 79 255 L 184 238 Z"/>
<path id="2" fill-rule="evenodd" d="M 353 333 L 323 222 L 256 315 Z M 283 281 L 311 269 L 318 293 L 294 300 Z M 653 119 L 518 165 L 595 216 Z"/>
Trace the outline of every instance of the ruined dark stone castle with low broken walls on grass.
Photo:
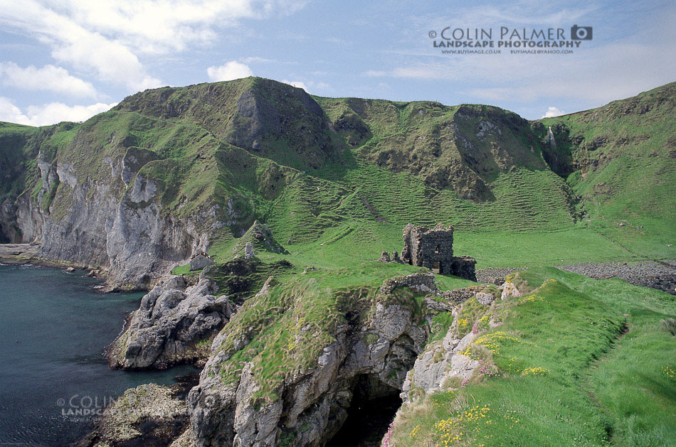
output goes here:
<path id="1" fill-rule="evenodd" d="M 432 230 L 408 224 L 403 229 L 403 249 L 401 258 L 397 252 L 390 257 L 383 252 L 381 262 L 401 262 L 427 267 L 439 274 L 460 276 L 476 281 L 476 259 L 469 256 L 453 256 L 453 226 L 437 224 Z"/>

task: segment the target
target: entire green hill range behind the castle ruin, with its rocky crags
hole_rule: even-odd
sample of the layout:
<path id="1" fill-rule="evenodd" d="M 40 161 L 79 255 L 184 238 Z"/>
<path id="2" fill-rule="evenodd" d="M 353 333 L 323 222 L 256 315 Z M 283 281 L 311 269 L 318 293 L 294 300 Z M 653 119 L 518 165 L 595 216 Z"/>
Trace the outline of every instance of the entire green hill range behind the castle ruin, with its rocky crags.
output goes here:
<path id="1" fill-rule="evenodd" d="M 480 267 L 673 258 L 674 90 L 536 122 L 490 106 L 311 97 L 255 77 L 147 90 L 82 124 L 2 124 L 2 233 L 39 239 L 39 219 L 19 222 L 36 214 L 105 233 L 107 217 L 92 226 L 72 208 L 110 200 L 189 222 L 223 260 L 254 220 L 289 252 L 264 260 L 301 265 L 376 259 L 408 222 L 453 224 Z"/>

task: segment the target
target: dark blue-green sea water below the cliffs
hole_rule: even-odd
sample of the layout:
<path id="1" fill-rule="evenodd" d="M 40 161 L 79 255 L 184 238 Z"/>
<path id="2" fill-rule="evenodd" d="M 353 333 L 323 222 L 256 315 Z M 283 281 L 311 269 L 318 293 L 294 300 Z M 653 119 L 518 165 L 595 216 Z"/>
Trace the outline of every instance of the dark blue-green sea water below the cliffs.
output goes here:
<path id="1" fill-rule="evenodd" d="M 81 272 L 0 265 L 0 445 L 63 446 L 125 389 L 196 372 L 110 370 L 102 356 L 143 293 L 95 293 Z M 77 416 L 68 414 L 80 413 Z"/>

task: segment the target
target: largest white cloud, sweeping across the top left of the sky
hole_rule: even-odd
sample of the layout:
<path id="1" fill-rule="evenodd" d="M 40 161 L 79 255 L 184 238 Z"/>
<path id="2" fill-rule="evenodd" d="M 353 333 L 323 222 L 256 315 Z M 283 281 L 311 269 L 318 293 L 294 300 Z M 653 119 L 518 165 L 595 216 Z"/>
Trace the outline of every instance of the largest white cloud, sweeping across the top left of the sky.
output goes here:
<path id="1" fill-rule="evenodd" d="M 159 87 L 139 56 L 223 38 L 218 28 L 292 14 L 307 0 L 0 0 L 0 25 L 51 48 L 53 58 L 129 90 Z"/>

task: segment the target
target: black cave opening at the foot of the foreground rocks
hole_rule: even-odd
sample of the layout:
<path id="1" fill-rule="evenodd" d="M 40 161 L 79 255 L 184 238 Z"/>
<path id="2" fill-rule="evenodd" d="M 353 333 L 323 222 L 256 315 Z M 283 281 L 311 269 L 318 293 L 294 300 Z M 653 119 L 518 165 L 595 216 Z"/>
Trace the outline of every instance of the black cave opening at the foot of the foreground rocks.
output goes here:
<path id="1" fill-rule="evenodd" d="M 401 390 L 375 375 L 361 375 L 352 389 L 347 419 L 327 447 L 376 447 L 401 406 Z"/>

